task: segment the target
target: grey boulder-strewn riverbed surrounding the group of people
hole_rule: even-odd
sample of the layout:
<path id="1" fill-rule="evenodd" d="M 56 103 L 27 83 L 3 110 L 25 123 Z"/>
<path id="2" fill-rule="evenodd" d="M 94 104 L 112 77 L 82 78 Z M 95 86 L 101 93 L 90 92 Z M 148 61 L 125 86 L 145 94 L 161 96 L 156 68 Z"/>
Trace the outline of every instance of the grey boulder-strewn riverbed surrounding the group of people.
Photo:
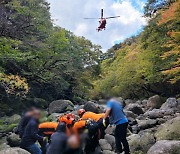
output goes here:
<path id="1" fill-rule="evenodd" d="M 163 100 L 155 95 L 147 100 L 123 100 L 124 112 L 129 120 L 128 141 L 132 154 L 180 154 L 180 99 Z M 43 111 L 43 121 L 57 121 L 68 112 L 77 114 L 79 108 L 100 113 L 104 111 L 105 100 L 74 105 L 69 100 L 57 100 L 50 103 Z M 20 149 L 19 137 L 14 130 L 20 115 L 1 117 L 0 120 L 0 154 L 28 154 Z M 105 139 L 99 141 L 96 153 L 115 154 L 114 126 L 108 126 Z"/>

